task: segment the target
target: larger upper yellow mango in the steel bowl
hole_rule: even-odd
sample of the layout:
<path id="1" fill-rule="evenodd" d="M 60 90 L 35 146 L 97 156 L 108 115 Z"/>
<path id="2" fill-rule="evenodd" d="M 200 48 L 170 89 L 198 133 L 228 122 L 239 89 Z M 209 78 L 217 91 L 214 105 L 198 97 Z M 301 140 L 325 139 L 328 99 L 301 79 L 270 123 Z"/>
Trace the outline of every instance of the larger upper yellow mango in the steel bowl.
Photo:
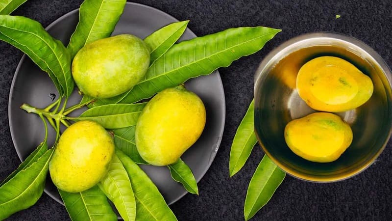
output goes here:
<path id="1" fill-rule="evenodd" d="M 355 109 L 373 93 L 373 83 L 367 75 L 334 56 L 321 56 L 305 63 L 298 72 L 296 88 L 309 107 L 328 112 Z"/>

